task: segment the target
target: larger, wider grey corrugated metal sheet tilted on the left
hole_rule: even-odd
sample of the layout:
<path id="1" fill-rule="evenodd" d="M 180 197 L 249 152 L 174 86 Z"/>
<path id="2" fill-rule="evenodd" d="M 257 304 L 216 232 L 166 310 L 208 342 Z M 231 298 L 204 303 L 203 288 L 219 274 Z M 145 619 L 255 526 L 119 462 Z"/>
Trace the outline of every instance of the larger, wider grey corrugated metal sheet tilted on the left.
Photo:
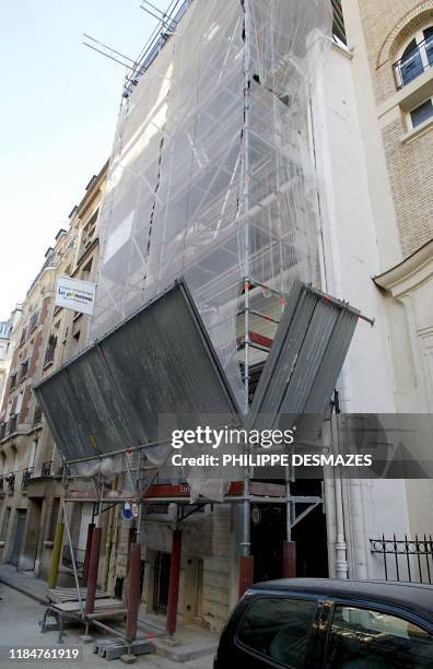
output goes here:
<path id="1" fill-rule="evenodd" d="M 238 410 L 183 282 L 35 387 L 66 461 L 237 425 Z"/>

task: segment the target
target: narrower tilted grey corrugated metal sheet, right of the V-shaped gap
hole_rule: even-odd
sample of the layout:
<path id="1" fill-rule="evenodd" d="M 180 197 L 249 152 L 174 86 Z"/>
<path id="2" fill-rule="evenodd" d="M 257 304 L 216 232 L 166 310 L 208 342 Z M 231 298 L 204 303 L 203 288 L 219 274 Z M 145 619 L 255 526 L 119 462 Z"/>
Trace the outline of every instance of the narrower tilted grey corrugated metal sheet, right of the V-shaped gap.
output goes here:
<path id="1" fill-rule="evenodd" d="M 250 425 L 274 429 L 283 415 L 323 415 L 344 362 L 359 312 L 297 283 L 288 300 L 257 386 Z"/>

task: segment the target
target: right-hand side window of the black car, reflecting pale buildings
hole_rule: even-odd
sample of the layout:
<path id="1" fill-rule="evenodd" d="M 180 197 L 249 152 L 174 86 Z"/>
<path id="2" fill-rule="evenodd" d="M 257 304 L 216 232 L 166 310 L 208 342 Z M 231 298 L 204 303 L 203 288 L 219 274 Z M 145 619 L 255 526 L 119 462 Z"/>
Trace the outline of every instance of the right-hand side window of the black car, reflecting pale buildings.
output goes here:
<path id="1" fill-rule="evenodd" d="M 326 654 L 332 669 L 433 669 L 433 636 L 381 611 L 336 606 Z"/>

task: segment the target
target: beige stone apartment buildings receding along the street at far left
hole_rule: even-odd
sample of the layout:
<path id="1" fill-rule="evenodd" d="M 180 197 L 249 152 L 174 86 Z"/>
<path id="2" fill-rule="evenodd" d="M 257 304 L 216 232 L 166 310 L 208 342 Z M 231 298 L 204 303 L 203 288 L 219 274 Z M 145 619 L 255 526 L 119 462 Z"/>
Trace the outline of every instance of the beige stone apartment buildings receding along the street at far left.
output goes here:
<path id="1" fill-rule="evenodd" d="M 0 559 L 35 576 L 46 576 L 50 566 L 62 467 L 32 387 L 85 347 L 87 317 L 56 306 L 56 283 L 59 275 L 94 280 L 105 174 L 106 165 L 47 249 L 12 331 L 0 414 Z M 67 551 L 63 558 L 68 568 Z"/>

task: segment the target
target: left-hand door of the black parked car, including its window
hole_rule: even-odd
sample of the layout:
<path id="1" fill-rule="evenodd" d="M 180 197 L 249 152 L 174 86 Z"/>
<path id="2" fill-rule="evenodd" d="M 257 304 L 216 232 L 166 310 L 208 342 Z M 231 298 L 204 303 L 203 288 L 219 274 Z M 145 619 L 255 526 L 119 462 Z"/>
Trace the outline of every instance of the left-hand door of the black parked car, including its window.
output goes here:
<path id="1" fill-rule="evenodd" d="M 234 631 L 227 668 L 314 669 L 311 656 L 316 617 L 314 598 L 272 594 L 255 597 Z"/>

